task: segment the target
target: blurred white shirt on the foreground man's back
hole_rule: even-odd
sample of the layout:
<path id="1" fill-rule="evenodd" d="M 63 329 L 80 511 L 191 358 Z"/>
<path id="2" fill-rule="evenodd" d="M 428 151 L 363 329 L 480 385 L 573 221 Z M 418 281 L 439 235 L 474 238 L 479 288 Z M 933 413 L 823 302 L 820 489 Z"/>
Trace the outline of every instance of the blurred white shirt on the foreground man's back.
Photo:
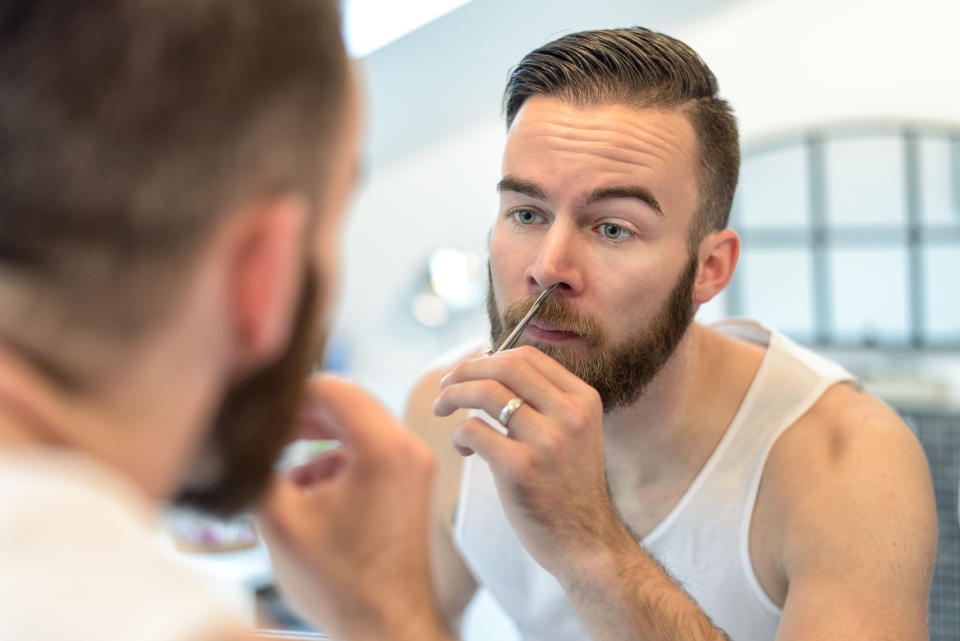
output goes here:
<path id="1" fill-rule="evenodd" d="M 78 453 L 0 453 L 0 639 L 204 641 L 238 624 L 156 543 L 159 513 Z"/>

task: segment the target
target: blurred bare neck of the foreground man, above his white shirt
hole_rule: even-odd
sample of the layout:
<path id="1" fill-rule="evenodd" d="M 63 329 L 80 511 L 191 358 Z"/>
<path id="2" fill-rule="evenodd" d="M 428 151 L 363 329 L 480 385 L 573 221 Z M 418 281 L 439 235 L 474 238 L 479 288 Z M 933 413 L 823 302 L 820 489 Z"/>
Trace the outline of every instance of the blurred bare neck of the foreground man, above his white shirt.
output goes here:
<path id="1" fill-rule="evenodd" d="M 199 425 L 217 394 L 195 363 L 192 369 L 164 367 L 171 357 L 169 349 L 165 355 L 146 349 L 131 365 L 74 394 L 0 345 L 0 451 L 79 452 L 127 477 L 149 498 L 165 499 L 196 449 Z M 182 372 L 176 389 L 160 380 L 164 371 Z"/>

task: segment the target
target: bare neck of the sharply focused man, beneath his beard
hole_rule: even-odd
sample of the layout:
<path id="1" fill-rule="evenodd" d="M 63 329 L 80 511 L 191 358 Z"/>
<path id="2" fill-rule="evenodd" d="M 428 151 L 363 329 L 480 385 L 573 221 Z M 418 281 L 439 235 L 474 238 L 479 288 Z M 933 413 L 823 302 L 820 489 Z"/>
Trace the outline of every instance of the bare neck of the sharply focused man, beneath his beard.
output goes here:
<path id="1" fill-rule="evenodd" d="M 742 398 L 726 407 L 729 395 L 719 383 L 725 340 L 693 323 L 640 399 L 604 417 L 607 476 L 615 494 L 689 478 L 709 457 Z"/>

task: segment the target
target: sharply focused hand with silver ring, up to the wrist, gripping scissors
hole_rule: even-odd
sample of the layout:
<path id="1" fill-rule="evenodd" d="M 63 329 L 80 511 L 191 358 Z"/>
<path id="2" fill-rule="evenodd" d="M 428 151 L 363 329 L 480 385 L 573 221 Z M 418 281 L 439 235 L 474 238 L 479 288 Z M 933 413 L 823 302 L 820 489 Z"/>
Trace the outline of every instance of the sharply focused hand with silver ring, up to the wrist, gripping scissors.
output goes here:
<path id="1" fill-rule="evenodd" d="M 497 416 L 524 403 L 508 435 L 479 418 L 454 430 L 462 454 L 490 465 L 510 523 L 527 551 L 564 585 L 583 578 L 600 550 L 636 548 L 607 492 L 603 407 L 597 392 L 533 347 L 470 359 L 441 381 L 434 413 Z"/>

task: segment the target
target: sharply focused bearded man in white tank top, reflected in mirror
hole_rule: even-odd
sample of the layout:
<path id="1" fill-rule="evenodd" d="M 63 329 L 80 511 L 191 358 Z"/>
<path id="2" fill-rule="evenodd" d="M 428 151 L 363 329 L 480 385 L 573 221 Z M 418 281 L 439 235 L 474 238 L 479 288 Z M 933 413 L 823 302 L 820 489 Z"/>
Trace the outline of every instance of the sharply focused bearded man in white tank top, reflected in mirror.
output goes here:
<path id="1" fill-rule="evenodd" d="M 505 111 L 492 344 L 557 287 L 520 347 L 408 405 L 439 461 L 447 620 L 483 586 L 528 640 L 926 639 L 936 520 L 910 430 L 772 329 L 692 322 L 739 255 L 711 71 L 646 29 L 576 33 L 524 57 Z"/>

